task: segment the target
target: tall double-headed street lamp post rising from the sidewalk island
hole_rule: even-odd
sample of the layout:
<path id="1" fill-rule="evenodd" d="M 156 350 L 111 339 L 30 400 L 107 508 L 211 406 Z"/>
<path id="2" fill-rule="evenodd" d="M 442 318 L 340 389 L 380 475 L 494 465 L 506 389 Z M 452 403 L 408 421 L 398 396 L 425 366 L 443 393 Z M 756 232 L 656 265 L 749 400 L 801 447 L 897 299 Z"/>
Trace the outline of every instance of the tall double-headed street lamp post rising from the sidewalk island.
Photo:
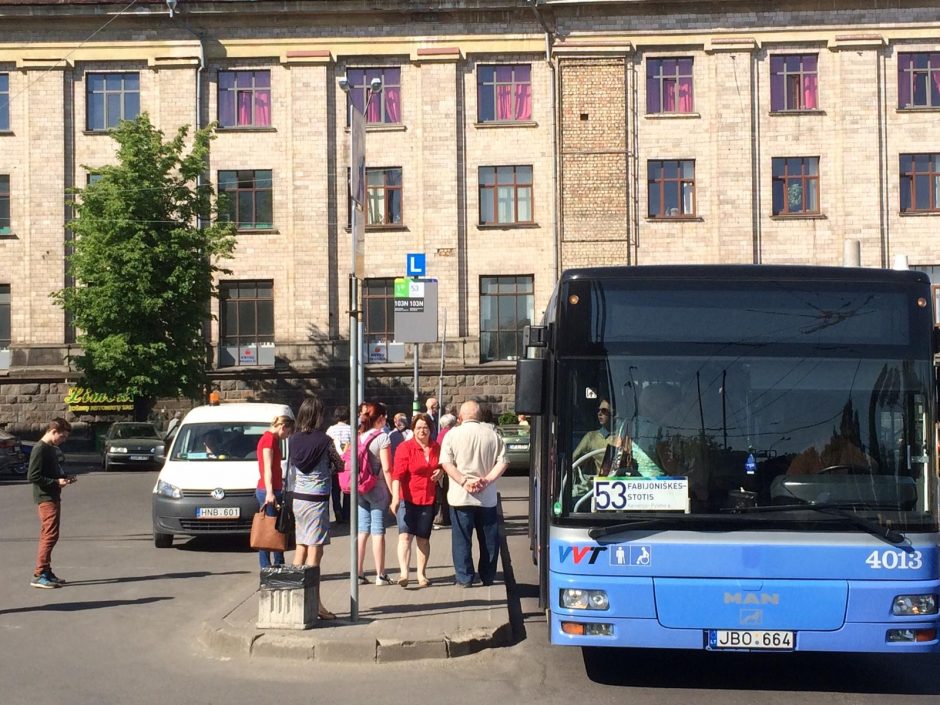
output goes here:
<path id="1" fill-rule="evenodd" d="M 347 96 L 349 95 L 349 80 L 343 76 L 339 79 L 339 87 Z M 356 526 L 359 518 L 359 381 L 360 365 L 359 355 L 361 342 L 361 321 L 359 310 L 359 275 L 362 264 L 359 260 L 363 256 L 357 251 L 358 240 L 363 237 L 365 222 L 362 220 L 360 208 L 364 208 L 366 192 L 366 128 L 365 113 L 369 110 L 372 98 L 382 90 L 382 79 L 373 78 L 369 83 L 369 94 L 363 106 L 363 112 L 356 110 L 355 103 L 349 99 L 349 194 L 350 219 L 352 225 L 352 258 L 349 269 L 349 413 L 352 425 L 352 438 L 350 439 L 349 459 L 351 477 L 349 483 L 349 617 L 355 622 L 359 619 L 359 554 L 358 536 Z M 363 381 L 362 386 L 365 386 Z"/>

